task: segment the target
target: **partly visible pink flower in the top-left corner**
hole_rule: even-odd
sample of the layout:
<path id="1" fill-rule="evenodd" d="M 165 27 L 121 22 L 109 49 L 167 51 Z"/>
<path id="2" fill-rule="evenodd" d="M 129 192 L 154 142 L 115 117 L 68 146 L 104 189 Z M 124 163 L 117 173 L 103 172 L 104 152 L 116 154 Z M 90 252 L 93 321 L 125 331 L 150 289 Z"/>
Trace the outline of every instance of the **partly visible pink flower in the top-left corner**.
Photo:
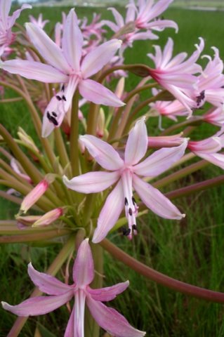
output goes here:
<path id="1" fill-rule="evenodd" d="M 8 46 L 13 42 L 15 34 L 13 34 L 11 29 L 15 20 L 18 19 L 23 9 L 32 8 L 32 6 L 24 4 L 20 9 L 15 11 L 12 16 L 9 16 L 11 2 L 11 0 L 0 0 L 0 46 Z"/>

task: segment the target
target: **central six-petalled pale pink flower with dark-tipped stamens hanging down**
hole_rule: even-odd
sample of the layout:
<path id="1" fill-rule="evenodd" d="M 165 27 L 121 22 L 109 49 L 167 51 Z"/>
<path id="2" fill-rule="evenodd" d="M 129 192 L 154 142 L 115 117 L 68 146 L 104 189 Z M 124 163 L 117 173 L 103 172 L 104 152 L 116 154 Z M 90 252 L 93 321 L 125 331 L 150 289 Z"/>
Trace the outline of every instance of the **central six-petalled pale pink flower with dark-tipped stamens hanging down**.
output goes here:
<path id="1" fill-rule="evenodd" d="M 154 213 L 169 219 L 183 218 L 169 199 L 152 185 L 145 183 L 138 176 L 156 177 L 163 173 L 183 156 L 187 143 L 178 147 L 163 148 L 154 152 L 144 161 L 140 161 L 147 152 L 148 138 L 144 118 L 137 121 L 131 129 L 126 143 L 124 159 L 121 159 L 114 148 L 94 136 L 81 136 L 88 152 L 106 170 L 112 172 L 90 172 L 68 180 L 63 177 L 65 185 L 82 193 L 101 192 L 114 183 L 117 185 L 108 195 L 98 218 L 98 225 L 93 234 L 93 242 L 98 243 L 117 222 L 125 206 L 126 218 L 129 222 L 127 232 L 129 238 L 136 234 L 136 215 L 138 206 L 133 197 L 133 188 L 139 194 L 144 204 Z"/>

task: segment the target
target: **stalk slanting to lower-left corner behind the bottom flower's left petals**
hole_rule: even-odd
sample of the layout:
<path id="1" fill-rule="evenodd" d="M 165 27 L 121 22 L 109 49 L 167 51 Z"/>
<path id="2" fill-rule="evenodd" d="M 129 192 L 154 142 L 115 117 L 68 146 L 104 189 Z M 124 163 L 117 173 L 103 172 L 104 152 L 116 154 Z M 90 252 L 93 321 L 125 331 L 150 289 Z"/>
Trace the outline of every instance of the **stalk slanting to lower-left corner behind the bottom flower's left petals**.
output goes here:
<path id="1" fill-rule="evenodd" d="M 68 256 L 70 256 L 73 250 L 74 250 L 74 236 L 72 235 L 70 239 L 67 240 L 65 246 L 63 246 L 62 250 L 55 258 L 55 260 L 53 260 L 53 263 L 51 263 L 51 266 L 46 271 L 46 274 L 55 276 L 57 272 L 60 270 L 60 267 L 62 267 L 63 263 L 65 263 L 65 260 L 68 258 Z M 35 288 L 30 297 L 37 297 L 37 296 L 41 296 L 41 291 L 39 291 L 38 288 Z M 7 337 L 18 337 L 20 331 L 22 330 L 22 327 L 24 326 L 25 322 L 27 322 L 28 318 L 29 317 L 18 317 L 15 320 L 15 323 L 13 324 L 13 327 L 11 331 L 9 331 Z"/>

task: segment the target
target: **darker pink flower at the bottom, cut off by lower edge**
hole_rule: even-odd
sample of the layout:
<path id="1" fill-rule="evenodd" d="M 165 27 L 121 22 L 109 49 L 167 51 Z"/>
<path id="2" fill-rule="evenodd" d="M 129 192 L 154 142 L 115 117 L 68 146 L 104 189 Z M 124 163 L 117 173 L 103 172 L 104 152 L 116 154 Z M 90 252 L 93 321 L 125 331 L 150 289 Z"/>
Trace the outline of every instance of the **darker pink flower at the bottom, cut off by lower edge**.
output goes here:
<path id="1" fill-rule="evenodd" d="M 31 263 L 28 265 L 28 273 L 35 286 L 49 296 L 29 298 L 18 305 L 1 302 L 4 309 L 22 317 L 44 315 L 74 298 L 74 308 L 65 337 L 84 337 L 85 304 L 98 325 L 112 336 L 145 336 L 145 332 L 134 329 L 119 312 L 102 303 L 116 298 L 129 286 L 129 281 L 102 289 L 90 288 L 89 284 L 94 278 L 94 267 L 88 239 L 81 243 L 77 252 L 72 273 L 74 284 L 67 285 L 51 275 L 38 272 Z"/>

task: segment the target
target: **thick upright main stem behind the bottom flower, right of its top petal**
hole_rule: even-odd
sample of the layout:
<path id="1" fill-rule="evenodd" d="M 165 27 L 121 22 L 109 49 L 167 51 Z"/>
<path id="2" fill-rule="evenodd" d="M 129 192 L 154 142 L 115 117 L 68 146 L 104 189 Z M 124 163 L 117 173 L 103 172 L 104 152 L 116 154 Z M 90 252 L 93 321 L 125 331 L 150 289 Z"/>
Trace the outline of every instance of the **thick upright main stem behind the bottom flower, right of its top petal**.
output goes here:
<path id="1" fill-rule="evenodd" d="M 91 251 L 93 253 L 95 277 L 91 283 L 91 288 L 99 289 L 103 286 L 103 249 L 98 244 L 91 244 Z M 95 322 L 88 308 L 85 312 L 85 337 L 98 337 L 100 327 Z"/>

